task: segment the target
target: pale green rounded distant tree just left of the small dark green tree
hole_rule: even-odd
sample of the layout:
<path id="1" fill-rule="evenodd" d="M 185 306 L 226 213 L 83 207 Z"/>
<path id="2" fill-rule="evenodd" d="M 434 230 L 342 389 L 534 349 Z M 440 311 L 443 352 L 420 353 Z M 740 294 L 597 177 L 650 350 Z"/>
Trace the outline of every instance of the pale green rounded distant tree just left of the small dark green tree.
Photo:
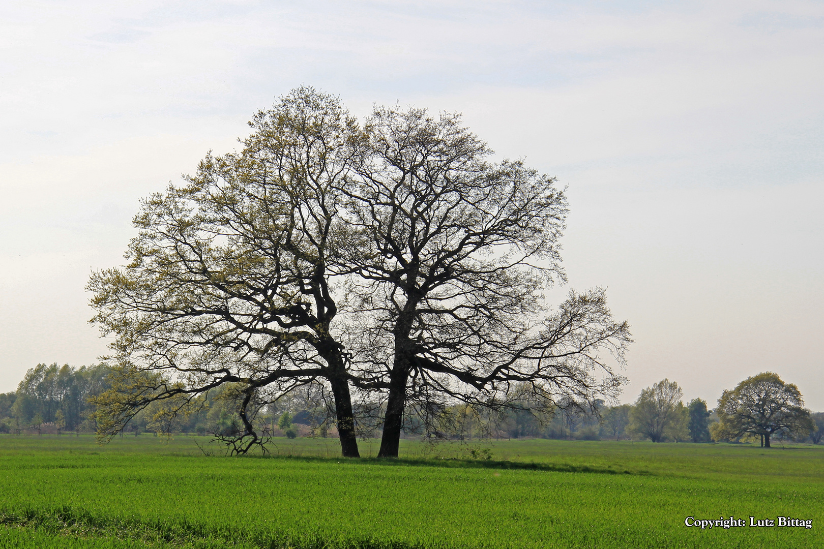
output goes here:
<path id="1" fill-rule="evenodd" d="M 682 397 L 681 388 L 669 379 L 644 388 L 630 414 L 632 430 L 653 442 L 662 442 L 667 435 L 678 440 L 686 423 Z"/>

